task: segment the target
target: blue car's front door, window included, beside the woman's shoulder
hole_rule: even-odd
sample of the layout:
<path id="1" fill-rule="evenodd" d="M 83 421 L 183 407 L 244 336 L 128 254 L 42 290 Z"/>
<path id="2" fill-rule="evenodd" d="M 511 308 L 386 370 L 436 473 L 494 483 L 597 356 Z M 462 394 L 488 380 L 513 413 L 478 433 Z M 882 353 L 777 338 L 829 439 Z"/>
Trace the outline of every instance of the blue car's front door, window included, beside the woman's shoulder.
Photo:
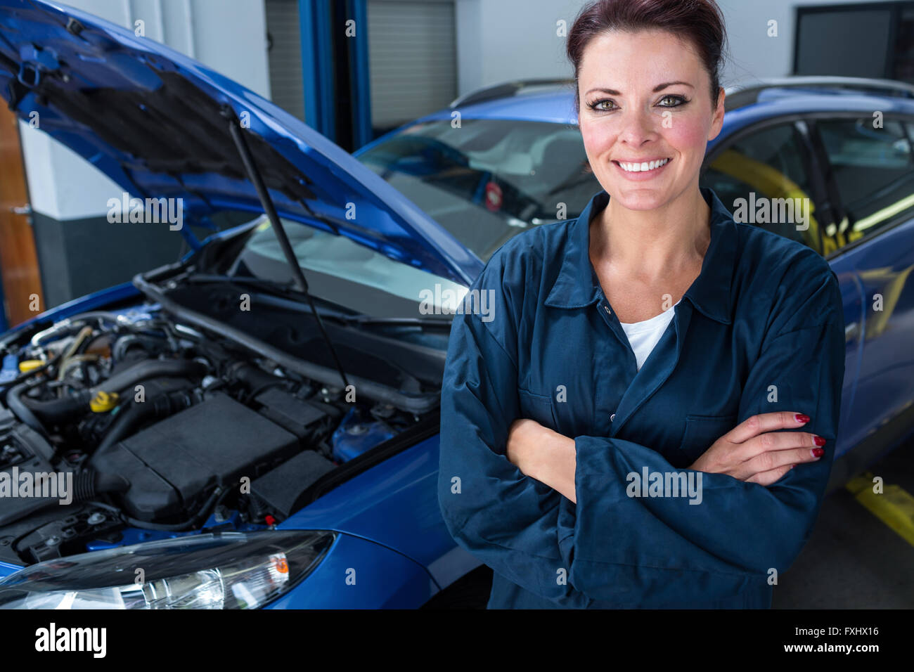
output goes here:
<path id="1" fill-rule="evenodd" d="M 762 198 L 808 199 L 808 222 L 757 221 L 754 217 L 749 217 L 747 222 L 797 240 L 820 254 L 827 250 L 824 232 L 834 227 L 834 202 L 829 197 L 821 159 L 814 151 L 804 120 L 759 123 L 719 142 L 706 157 L 701 185 L 714 189 L 735 216 L 740 198 L 748 203 L 757 203 Z M 853 267 L 841 259 L 830 262 L 841 287 L 846 325 L 845 381 L 836 447 L 836 455 L 840 455 L 854 445 L 849 437 L 857 433 L 848 429 L 853 430 L 856 422 L 855 385 L 863 294 Z"/>

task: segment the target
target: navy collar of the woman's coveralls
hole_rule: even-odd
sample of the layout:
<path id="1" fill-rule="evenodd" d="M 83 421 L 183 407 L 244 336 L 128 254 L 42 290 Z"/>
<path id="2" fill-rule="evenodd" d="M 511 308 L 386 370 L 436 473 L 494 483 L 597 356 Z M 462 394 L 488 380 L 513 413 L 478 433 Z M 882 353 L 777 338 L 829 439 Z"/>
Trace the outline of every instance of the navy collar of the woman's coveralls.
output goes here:
<path id="1" fill-rule="evenodd" d="M 736 221 L 711 189 L 699 187 L 711 207 L 711 241 L 707 246 L 701 272 L 685 292 L 685 298 L 702 314 L 722 324 L 730 324 L 730 280 L 736 257 Z M 569 240 L 561 269 L 546 299 L 555 308 L 583 308 L 599 300 L 600 280 L 590 263 L 590 221 L 610 202 L 600 190 L 569 226 Z"/>

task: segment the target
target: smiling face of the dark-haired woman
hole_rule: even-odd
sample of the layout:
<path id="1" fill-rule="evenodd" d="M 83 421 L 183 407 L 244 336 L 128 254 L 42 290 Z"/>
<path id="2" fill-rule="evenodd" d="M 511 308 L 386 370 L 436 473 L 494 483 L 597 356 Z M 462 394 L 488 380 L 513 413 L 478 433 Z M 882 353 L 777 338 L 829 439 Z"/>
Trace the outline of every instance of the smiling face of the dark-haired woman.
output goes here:
<path id="1" fill-rule="evenodd" d="M 661 208 L 697 184 L 724 96 L 712 107 L 710 76 L 686 42 L 657 30 L 603 33 L 584 49 L 578 88 L 590 166 L 618 205 Z"/>

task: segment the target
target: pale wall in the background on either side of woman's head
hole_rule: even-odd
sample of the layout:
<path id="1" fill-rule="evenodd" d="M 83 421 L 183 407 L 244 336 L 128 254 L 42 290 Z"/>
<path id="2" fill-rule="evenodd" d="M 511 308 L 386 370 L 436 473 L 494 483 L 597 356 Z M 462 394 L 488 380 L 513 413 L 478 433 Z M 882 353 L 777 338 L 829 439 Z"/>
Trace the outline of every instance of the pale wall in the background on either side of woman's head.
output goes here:
<path id="1" fill-rule="evenodd" d="M 797 6 L 866 1 L 717 0 L 729 39 L 723 85 L 790 74 Z M 585 0 L 456 0 L 459 93 L 505 80 L 571 77 L 565 38 L 558 37 L 557 22 L 564 19 L 570 30 L 586 4 Z M 770 19 L 778 22 L 778 37 L 768 37 Z"/>

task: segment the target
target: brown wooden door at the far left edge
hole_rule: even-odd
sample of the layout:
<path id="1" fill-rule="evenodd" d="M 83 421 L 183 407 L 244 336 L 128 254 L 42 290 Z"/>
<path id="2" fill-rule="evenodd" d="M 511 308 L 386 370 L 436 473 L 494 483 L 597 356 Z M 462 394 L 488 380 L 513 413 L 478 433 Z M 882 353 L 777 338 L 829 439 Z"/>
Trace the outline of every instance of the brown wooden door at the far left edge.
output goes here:
<path id="1" fill-rule="evenodd" d="M 45 310 L 16 115 L 0 101 L 0 279 L 8 326 Z M 36 300 L 37 299 L 37 300 Z"/>

